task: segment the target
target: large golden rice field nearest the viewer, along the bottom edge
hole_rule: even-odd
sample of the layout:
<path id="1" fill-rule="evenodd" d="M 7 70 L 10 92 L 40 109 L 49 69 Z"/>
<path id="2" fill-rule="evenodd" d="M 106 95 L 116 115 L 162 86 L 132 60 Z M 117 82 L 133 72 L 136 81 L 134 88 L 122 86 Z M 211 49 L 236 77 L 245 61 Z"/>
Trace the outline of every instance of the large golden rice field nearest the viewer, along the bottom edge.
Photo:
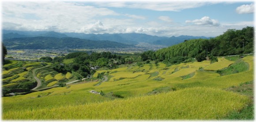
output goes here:
<path id="1" fill-rule="evenodd" d="M 102 103 L 7 111 L 3 119 L 216 120 L 241 110 L 249 101 L 237 93 L 196 87 Z"/>

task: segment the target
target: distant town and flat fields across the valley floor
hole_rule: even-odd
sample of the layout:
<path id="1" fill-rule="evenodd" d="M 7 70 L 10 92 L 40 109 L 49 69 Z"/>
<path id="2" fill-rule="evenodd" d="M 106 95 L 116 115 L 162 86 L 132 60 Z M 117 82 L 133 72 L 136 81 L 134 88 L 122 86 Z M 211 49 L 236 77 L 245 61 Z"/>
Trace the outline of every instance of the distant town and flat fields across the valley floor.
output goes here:
<path id="1" fill-rule="evenodd" d="M 164 46 L 151 45 L 148 43 L 139 43 L 136 47 L 129 48 L 104 48 L 104 49 L 47 49 L 47 50 L 31 50 L 31 49 L 9 49 L 6 58 L 19 59 L 19 60 L 38 60 L 40 57 L 58 57 L 64 56 L 68 53 L 75 51 L 87 51 L 87 52 L 111 52 L 116 54 L 134 54 L 142 53 L 147 50 L 158 50 L 164 48 Z"/>

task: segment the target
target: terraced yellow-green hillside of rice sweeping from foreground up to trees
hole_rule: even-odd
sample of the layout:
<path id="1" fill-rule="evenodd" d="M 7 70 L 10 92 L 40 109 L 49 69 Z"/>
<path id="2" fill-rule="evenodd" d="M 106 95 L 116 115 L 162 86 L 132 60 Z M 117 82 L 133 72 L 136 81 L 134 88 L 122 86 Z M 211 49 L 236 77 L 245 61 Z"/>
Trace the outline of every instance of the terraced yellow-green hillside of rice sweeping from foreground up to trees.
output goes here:
<path id="1" fill-rule="evenodd" d="M 247 107 L 252 106 L 251 96 L 230 90 L 252 83 L 253 58 L 247 56 L 237 58 L 236 61 L 221 58 L 212 64 L 210 61 L 202 61 L 171 66 L 163 63 L 156 65 L 154 62 L 143 65 L 133 63 L 117 69 L 98 70 L 94 73 L 93 79 L 100 74 L 108 78 L 106 82 L 103 82 L 105 77 L 98 82 L 89 79 L 88 82 L 81 84 L 3 97 L 2 118 L 4 120 L 232 119 L 233 113 L 253 111 L 252 107 Z M 218 68 L 212 69 L 217 63 L 226 65 L 218 65 Z M 227 70 L 230 67 L 232 71 L 238 72 L 230 73 L 230 70 Z M 41 74 L 44 74 L 42 77 L 45 79 L 47 73 L 41 71 Z M 56 77 L 58 75 L 63 79 L 66 78 L 65 74 L 52 74 Z M 49 81 L 46 85 L 56 83 L 56 79 Z M 101 94 L 90 93 L 90 90 Z M 252 90 L 244 91 L 253 94 Z M 253 115 L 247 119 L 253 119 Z"/>

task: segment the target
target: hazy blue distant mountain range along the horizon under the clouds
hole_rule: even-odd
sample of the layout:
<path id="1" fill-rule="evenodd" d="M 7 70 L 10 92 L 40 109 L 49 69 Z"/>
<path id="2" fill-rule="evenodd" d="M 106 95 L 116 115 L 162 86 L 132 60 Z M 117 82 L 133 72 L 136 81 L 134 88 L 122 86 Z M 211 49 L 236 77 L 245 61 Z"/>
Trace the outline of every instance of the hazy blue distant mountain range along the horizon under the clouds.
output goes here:
<path id="1" fill-rule="evenodd" d="M 64 37 L 73 37 L 80 39 L 89 39 L 89 40 L 109 40 L 118 43 L 125 44 L 138 44 L 138 43 L 150 43 L 154 45 L 164 45 L 164 46 L 172 46 L 178 43 L 184 42 L 184 40 L 189 39 L 210 39 L 210 37 L 204 36 L 172 36 L 172 37 L 159 37 L 159 36 L 151 36 L 143 33 L 116 33 L 116 34 L 85 34 L 85 33 L 75 33 L 75 32 L 47 32 L 47 31 L 13 31 L 13 30 L 3 30 L 3 39 L 11 39 L 11 38 L 21 38 L 21 37 L 56 37 L 56 38 L 64 38 Z"/>

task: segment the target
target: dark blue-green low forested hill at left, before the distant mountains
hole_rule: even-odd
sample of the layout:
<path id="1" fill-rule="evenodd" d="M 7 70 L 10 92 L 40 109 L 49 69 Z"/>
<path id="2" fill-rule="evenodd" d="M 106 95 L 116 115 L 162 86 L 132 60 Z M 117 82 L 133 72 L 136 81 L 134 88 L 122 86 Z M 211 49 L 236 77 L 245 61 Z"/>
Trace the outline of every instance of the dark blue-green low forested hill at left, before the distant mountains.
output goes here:
<path id="1" fill-rule="evenodd" d="M 8 49 L 63 49 L 63 48 L 125 48 L 132 45 L 112 41 L 93 41 L 79 38 L 56 37 L 25 37 L 4 39 L 4 45 Z"/>

